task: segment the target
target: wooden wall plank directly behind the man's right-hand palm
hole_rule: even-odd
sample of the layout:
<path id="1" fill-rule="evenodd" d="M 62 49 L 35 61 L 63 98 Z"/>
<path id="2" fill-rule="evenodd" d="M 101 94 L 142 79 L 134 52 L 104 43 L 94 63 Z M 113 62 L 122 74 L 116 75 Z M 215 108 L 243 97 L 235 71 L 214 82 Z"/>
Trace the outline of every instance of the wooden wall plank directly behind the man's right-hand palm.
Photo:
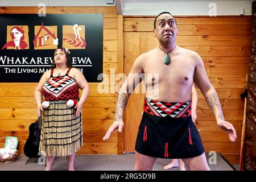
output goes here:
<path id="1" fill-rule="evenodd" d="M 225 116 L 226 118 L 226 116 Z M 241 120 L 228 120 L 226 119 L 226 121 L 232 123 L 232 125 L 234 126 L 234 128 L 237 131 L 242 131 L 242 121 Z M 196 119 L 196 121 L 194 122 L 196 128 L 198 130 L 201 131 L 222 131 L 220 129 L 220 127 L 218 127 L 217 122 L 216 121 L 207 121 L 207 120 L 199 120 L 198 118 Z"/>

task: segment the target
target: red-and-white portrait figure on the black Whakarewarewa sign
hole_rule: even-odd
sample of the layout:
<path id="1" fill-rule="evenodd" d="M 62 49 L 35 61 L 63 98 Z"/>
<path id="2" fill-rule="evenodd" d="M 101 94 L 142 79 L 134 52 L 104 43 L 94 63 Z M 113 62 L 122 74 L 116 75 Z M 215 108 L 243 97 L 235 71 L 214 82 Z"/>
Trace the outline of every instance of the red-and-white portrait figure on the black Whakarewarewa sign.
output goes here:
<path id="1" fill-rule="evenodd" d="M 7 47 L 14 47 L 15 50 L 23 50 L 28 47 L 27 43 L 24 41 L 24 30 L 22 28 L 15 26 L 11 28 L 11 41 L 3 45 L 2 50 Z"/>

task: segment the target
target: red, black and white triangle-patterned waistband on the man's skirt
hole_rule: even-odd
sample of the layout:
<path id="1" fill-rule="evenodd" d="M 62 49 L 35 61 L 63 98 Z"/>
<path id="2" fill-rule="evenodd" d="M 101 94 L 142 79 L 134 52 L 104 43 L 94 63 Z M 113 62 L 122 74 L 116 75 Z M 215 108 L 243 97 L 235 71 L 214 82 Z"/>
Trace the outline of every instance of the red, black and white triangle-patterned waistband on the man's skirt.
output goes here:
<path id="1" fill-rule="evenodd" d="M 144 112 L 158 117 L 183 118 L 191 115 L 189 102 L 160 102 L 144 98 Z"/>

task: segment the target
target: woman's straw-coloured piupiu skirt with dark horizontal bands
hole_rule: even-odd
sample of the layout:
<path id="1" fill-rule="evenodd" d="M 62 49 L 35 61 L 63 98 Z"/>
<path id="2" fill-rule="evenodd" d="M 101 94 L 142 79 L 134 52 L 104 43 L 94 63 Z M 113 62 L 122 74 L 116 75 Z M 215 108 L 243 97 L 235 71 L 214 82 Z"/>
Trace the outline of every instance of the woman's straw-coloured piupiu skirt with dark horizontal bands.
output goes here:
<path id="1" fill-rule="evenodd" d="M 39 151 L 42 155 L 67 156 L 83 145 L 82 114 L 67 106 L 67 101 L 49 102 L 42 112 Z"/>

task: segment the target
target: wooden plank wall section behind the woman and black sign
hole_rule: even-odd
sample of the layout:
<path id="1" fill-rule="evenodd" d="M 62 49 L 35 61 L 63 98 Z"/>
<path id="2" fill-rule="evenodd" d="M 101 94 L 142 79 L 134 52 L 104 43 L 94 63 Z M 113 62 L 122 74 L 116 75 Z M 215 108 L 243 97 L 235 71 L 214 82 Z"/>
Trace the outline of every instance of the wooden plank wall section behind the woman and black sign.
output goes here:
<path id="1" fill-rule="evenodd" d="M 47 14 L 103 14 L 103 72 L 109 75 L 110 69 L 114 68 L 117 73 L 118 16 L 115 7 L 47 7 L 46 12 Z M 0 13 L 37 14 L 38 7 L 1 7 Z M 34 100 L 36 85 L 37 83 L 0 83 L 0 138 L 18 137 L 20 154 L 23 154 L 28 127 L 38 119 Z M 100 94 L 97 92 L 97 83 L 89 83 L 89 85 L 90 94 L 82 109 L 84 146 L 78 154 L 117 154 L 117 132 L 108 141 L 102 140 L 113 122 L 117 94 Z M 4 141 L 5 139 L 0 140 L 0 147 L 3 146 Z"/>

